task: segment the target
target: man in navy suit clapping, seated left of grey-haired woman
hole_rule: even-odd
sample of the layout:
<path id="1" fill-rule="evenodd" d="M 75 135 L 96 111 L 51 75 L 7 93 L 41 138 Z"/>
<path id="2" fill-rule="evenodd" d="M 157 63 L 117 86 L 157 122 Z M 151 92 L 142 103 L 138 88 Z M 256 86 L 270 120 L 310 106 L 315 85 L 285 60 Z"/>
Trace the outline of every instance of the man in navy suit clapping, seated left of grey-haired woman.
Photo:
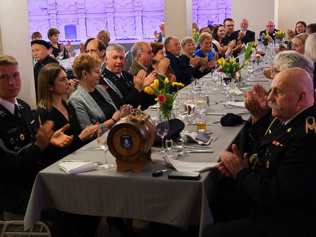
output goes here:
<path id="1" fill-rule="evenodd" d="M 170 67 L 177 78 L 177 82 L 181 82 L 185 84 L 185 86 L 191 84 L 191 78 L 193 78 L 192 75 L 195 71 L 194 68 L 201 64 L 201 58 L 196 56 L 191 58 L 188 63 L 180 56 L 180 42 L 173 36 L 170 36 L 165 40 L 165 48 L 167 58 L 170 59 Z"/>

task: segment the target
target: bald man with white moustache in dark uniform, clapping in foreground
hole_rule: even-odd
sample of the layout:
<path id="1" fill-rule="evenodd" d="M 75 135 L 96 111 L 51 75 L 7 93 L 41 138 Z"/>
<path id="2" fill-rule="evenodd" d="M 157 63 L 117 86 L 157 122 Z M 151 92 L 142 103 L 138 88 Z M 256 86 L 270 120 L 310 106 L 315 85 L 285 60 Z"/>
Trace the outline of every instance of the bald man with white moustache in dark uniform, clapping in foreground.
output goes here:
<path id="1" fill-rule="evenodd" d="M 220 154 L 226 176 L 211 204 L 205 236 L 315 236 L 316 107 L 313 81 L 300 68 L 281 71 L 265 98 L 272 108 L 248 130 L 255 154 Z M 267 129 L 268 128 L 268 129 Z"/>

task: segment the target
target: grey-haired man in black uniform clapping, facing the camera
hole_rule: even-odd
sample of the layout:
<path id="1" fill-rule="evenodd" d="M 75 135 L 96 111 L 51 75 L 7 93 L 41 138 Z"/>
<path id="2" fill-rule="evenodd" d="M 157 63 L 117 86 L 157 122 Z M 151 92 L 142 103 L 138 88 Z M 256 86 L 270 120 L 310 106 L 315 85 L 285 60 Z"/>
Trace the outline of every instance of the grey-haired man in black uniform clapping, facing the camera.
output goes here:
<path id="1" fill-rule="evenodd" d="M 112 44 L 106 48 L 105 62 L 106 67 L 99 84 L 106 89 L 117 109 L 125 104 L 130 104 L 134 108 L 142 105 L 143 110 L 148 108 L 149 95 L 143 89 L 154 81 L 155 71 L 147 77 L 143 69 L 139 70 L 135 76 L 123 71 L 125 49 L 118 44 Z"/>

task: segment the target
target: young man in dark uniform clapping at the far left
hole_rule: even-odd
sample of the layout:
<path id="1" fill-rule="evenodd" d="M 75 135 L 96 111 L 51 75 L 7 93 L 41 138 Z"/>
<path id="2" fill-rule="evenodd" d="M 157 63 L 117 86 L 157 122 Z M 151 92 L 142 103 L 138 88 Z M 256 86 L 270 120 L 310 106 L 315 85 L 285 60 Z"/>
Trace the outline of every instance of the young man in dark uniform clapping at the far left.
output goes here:
<path id="1" fill-rule="evenodd" d="M 64 134 L 69 124 L 56 132 L 52 121 L 38 126 L 30 106 L 16 98 L 20 90 L 18 62 L 0 55 L 0 210 L 24 215 L 36 175 L 50 165 L 42 151 L 48 144 L 65 147 L 72 137 Z M 57 210 L 44 210 L 42 218 L 53 222 L 52 236 L 78 236 L 79 222 L 86 221 L 85 216 Z M 93 232 L 100 218 L 88 219 Z"/>

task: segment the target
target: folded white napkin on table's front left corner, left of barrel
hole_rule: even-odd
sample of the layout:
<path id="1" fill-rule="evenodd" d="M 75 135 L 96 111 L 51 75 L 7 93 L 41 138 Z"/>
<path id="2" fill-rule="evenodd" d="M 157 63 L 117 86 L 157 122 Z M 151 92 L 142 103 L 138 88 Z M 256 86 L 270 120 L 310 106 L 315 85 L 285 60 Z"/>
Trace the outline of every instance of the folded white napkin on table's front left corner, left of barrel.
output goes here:
<path id="1" fill-rule="evenodd" d="M 74 173 L 82 173 L 89 170 L 94 170 L 98 168 L 98 164 L 95 161 L 91 162 L 76 162 L 76 161 L 70 161 L 70 162 L 59 162 L 59 167 L 64 170 L 68 174 L 74 174 Z"/>

